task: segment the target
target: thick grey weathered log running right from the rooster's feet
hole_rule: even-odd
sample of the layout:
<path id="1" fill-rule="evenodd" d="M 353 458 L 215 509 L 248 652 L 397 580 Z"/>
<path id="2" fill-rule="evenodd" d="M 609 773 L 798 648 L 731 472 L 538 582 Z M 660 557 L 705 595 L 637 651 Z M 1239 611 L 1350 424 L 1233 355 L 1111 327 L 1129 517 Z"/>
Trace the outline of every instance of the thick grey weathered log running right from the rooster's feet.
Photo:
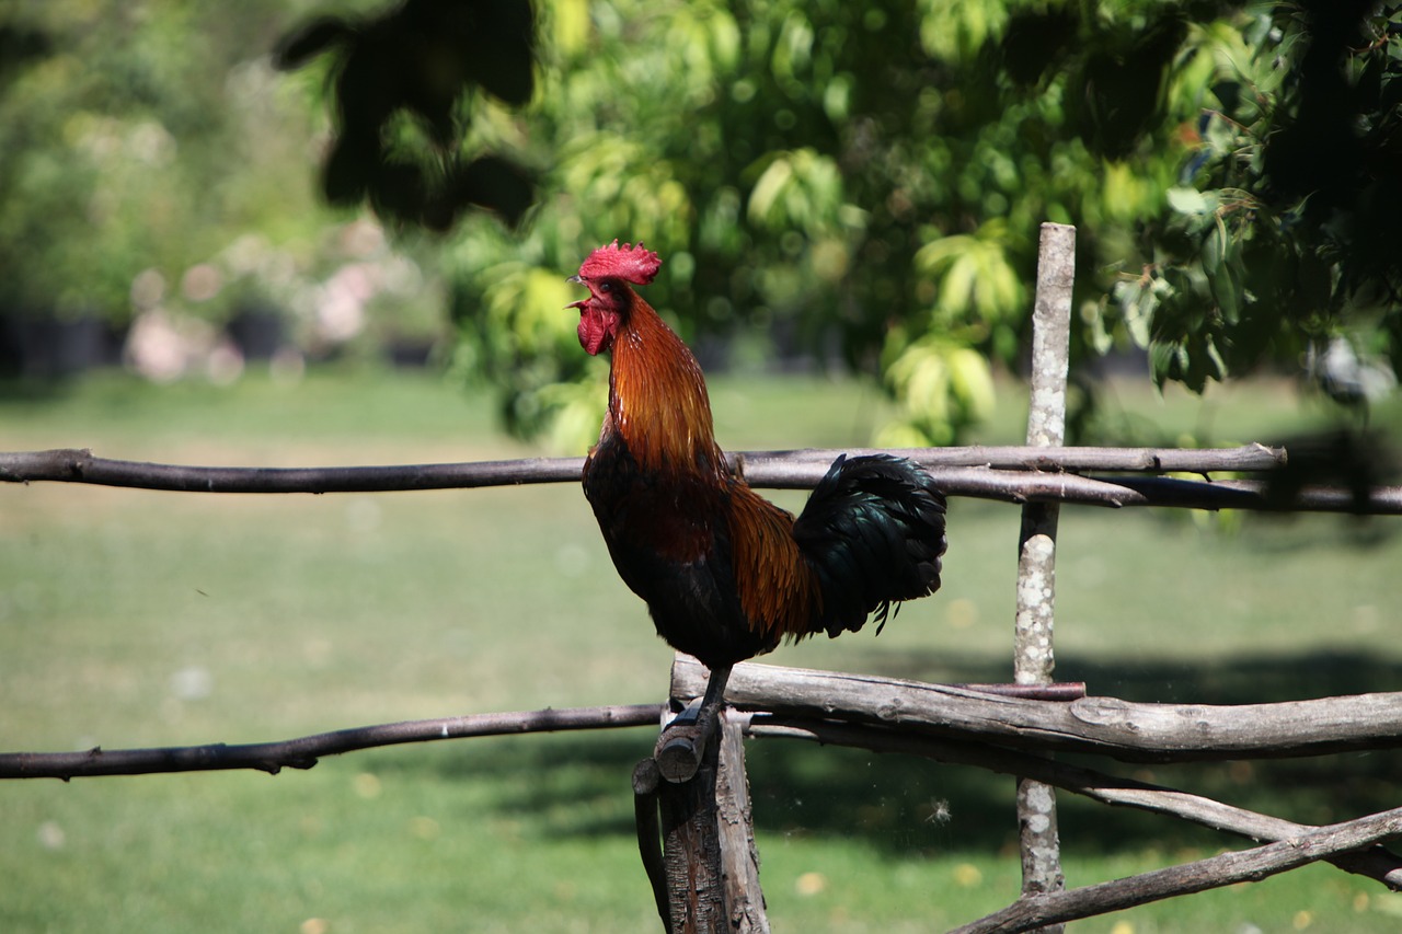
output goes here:
<path id="1" fill-rule="evenodd" d="M 694 696 L 705 668 L 673 665 L 673 690 Z M 1016 749 L 1092 752 L 1123 762 L 1316 756 L 1402 746 L 1402 693 L 1214 707 L 1084 697 L 1046 704 L 864 675 L 743 662 L 726 701 L 742 710 L 900 724 L 927 735 L 977 736 Z"/>

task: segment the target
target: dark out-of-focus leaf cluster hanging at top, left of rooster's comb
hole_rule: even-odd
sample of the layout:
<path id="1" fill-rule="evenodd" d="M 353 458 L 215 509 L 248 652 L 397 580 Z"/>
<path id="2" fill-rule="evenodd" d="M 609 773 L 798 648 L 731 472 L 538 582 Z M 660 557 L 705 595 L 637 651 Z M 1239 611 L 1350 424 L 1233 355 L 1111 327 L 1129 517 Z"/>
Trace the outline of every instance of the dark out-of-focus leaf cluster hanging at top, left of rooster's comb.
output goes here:
<path id="1" fill-rule="evenodd" d="M 531 100 L 534 42 L 529 0 L 405 0 L 374 18 L 315 17 L 283 38 L 273 60 L 299 69 L 334 59 L 327 201 L 369 201 L 381 217 L 444 231 L 471 209 L 516 224 L 534 198 L 520 165 L 463 147 L 475 90 L 512 107 Z M 401 144 L 405 116 L 422 143 Z"/>

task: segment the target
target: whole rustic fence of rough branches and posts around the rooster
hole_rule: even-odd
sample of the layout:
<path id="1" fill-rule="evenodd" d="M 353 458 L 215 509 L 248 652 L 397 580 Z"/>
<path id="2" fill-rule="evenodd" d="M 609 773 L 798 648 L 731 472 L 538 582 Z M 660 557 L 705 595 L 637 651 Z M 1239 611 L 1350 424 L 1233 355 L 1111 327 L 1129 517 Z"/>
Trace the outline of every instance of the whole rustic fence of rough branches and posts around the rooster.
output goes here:
<path id="1" fill-rule="evenodd" d="M 1402 515 L 1402 487 L 1349 489 L 1272 481 L 1290 452 L 1260 445 L 1217 450 L 1063 447 L 1066 334 L 1074 231 L 1043 227 L 1035 310 L 1032 407 L 1025 447 L 894 452 L 924 464 L 948 495 L 1019 503 L 1015 683 L 938 686 L 744 663 L 726 689 L 719 742 L 693 742 L 681 710 L 707 672 L 677 656 L 666 704 L 484 714 L 362 726 L 257 745 L 0 753 L 0 778 L 219 769 L 308 769 L 320 756 L 376 746 L 670 721 L 634 770 L 642 864 L 663 926 L 681 931 L 765 931 L 758 854 L 744 776 L 744 738 L 806 739 L 972 764 L 1018 778 L 1022 896 L 959 931 L 1056 930 L 1066 921 L 1209 888 L 1255 881 L 1315 861 L 1402 891 L 1402 806 L 1333 826 L 1298 825 L 1173 788 L 1056 762 L 1091 752 L 1138 763 L 1276 759 L 1402 746 L 1402 691 L 1311 701 L 1209 707 L 1134 704 L 1052 682 L 1056 519 L 1061 503 Z M 812 487 L 838 452 L 732 454 L 756 487 Z M 580 459 L 339 468 L 143 464 L 86 450 L 0 453 L 0 480 L 90 482 L 195 492 L 349 492 L 578 482 Z M 1228 471 L 1252 480 L 1210 480 Z M 1175 474 L 1175 475 L 1168 475 Z M 1202 477 L 1185 480 L 1182 474 Z M 683 738 L 677 770 L 669 762 Z M 695 771 L 695 777 L 690 776 Z M 672 778 L 686 778 L 670 781 Z M 622 777 L 620 777 L 622 781 Z M 1172 815 L 1260 844 L 1126 879 L 1066 889 L 1054 791 Z"/>

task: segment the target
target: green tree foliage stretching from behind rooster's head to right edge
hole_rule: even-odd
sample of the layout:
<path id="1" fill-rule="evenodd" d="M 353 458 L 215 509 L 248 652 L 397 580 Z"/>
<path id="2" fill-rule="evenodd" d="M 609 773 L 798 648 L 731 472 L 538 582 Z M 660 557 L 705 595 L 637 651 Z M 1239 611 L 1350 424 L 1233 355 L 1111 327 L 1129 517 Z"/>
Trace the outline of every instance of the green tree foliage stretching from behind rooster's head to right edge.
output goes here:
<path id="1" fill-rule="evenodd" d="M 663 255 L 648 297 L 694 344 L 749 327 L 880 379 L 889 445 L 987 414 L 990 365 L 1016 369 L 1026 341 L 1043 220 L 1080 231 L 1078 363 L 1138 346 L 1155 380 L 1202 390 L 1346 341 L 1387 388 L 1402 360 L 1378 202 L 1399 175 L 1395 7 L 1321 7 L 1343 24 L 1325 29 L 1307 7 L 1152 0 L 540 13 L 536 98 L 499 115 L 538 205 L 523 234 L 470 220 L 450 261 L 458 362 L 509 387 L 517 431 L 579 445 L 597 425 L 603 365 L 551 309 L 614 237 Z M 1311 69 L 1352 108 L 1325 114 L 1326 146 L 1371 161 L 1287 184 L 1266 140 L 1318 132 Z"/>

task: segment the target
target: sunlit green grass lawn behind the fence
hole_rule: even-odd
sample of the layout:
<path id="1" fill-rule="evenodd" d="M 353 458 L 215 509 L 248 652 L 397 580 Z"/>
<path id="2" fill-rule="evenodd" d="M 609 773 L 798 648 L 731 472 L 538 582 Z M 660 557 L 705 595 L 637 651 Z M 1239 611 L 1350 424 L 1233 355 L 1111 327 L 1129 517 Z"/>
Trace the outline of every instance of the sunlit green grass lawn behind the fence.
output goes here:
<path id="1" fill-rule="evenodd" d="M 1008 393 L 986 440 L 1016 440 Z M 869 387 L 712 384 L 726 447 L 864 445 Z M 1280 386 L 1117 417 L 1162 439 L 1269 439 Z M 1307 407 L 1308 408 L 1308 407 Z M 423 374 L 0 394 L 0 447 L 209 464 L 540 453 L 489 398 Z M 1394 412 L 1395 418 L 1395 412 Z M 1151 431 L 1150 431 L 1151 429 Z M 801 495 L 778 496 L 787 505 Z M 1391 524 L 1389 524 L 1391 523 Z M 1063 512 L 1059 677 L 1147 701 L 1402 690 L 1395 520 Z M 777 663 L 1009 676 L 1016 509 L 956 501 L 945 589 Z M 669 649 L 575 485 L 329 496 L 0 487 L 0 749 L 254 742 L 495 710 L 660 700 Z M 646 931 L 629 773 L 652 731 L 404 746 L 310 771 L 0 784 L 0 931 Z M 1016 895 L 1012 783 L 897 756 L 749 746 L 775 931 L 930 931 Z M 559 764 L 565 762 L 568 764 Z M 1304 822 L 1399 804 L 1402 760 L 1109 767 Z M 1063 797 L 1073 885 L 1238 841 Z M 1395 931 L 1402 896 L 1312 867 L 1077 931 Z"/>

